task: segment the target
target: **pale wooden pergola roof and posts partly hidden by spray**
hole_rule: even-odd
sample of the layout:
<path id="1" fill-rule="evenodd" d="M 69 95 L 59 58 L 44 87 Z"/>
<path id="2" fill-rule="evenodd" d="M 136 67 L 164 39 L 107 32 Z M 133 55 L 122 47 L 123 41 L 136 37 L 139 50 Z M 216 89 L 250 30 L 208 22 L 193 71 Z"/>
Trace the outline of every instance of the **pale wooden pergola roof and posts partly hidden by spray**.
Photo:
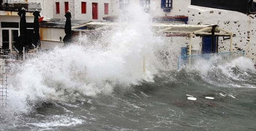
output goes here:
<path id="1" fill-rule="evenodd" d="M 122 25 L 116 22 L 93 22 L 88 21 L 83 24 L 73 26 L 73 31 L 106 31 L 113 26 Z M 193 36 L 211 35 L 212 45 L 215 36 L 230 36 L 230 51 L 232 51 L 233 34 L 230 31 L 220 28 L 215 24 L 158 24 L 151 25 L 152 30 L 162 36 L 184 36 L 189 37 L 189 55 L 191 55 L 191 38 Z M 81 33 L 80 33 L 81 34 Z"/>

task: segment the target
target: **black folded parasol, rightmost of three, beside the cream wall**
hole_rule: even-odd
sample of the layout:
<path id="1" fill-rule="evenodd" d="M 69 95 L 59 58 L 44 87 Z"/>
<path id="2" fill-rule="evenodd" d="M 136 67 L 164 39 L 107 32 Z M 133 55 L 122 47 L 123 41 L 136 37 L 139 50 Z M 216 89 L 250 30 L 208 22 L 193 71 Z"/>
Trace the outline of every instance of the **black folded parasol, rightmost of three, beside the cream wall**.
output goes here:
<path id="1" fill-rule="evenodd" d="M 67 46 L 69 43 L 71 43 L 72 36 L 71 36 L 71 13 L 67 11 L 67 13 L 64 15 L 66 17 L 66 23 L 65 23 L 65 34 L 66 36 L 63 38 L 64 46 Z"/>

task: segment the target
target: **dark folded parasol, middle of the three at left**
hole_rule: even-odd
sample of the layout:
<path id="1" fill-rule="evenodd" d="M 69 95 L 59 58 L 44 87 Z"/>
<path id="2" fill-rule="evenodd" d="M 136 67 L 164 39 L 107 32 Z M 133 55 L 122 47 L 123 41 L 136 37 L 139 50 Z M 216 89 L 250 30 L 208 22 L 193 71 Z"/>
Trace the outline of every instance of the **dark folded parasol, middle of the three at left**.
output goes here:
<path id="1" fill-rule="evenodd" d="M 33 15 L 34 15 L 33 46 L 36 48 L 37 46 L 40 46 L 40 34 L 39 34 L 39 20 L 38 20 L 38 17 L 41 17 L 41 16 L 40 16 L 40 13 L 39 13 L 38 10 L 35 10 Z"/>

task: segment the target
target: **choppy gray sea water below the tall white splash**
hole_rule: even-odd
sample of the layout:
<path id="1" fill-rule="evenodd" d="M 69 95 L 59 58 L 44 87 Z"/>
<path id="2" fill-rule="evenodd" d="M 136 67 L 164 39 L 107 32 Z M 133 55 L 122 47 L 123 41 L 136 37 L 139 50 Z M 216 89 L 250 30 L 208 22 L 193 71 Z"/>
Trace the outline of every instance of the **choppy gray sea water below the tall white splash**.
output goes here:
<path id="1" fill-rule="evenodd" d="M 127 89 L 119 85 L 111 94 L 34 105 L 30 113 L 17 115 L 15 123 L 1 117 L 1 130 L 256 130 L 255 70 L 234 66 L 228 78 L 215 68 L 205 75 L 164 71 L 154 82 Z"/>

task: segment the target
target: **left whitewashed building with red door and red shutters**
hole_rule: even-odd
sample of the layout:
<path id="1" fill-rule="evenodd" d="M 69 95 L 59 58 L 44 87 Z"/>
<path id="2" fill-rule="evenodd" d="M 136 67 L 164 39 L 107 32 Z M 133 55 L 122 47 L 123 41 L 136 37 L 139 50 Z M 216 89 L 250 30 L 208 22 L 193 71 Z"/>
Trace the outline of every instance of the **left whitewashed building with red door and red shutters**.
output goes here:
<path id="1" fill-rule="evenodd" d="M 117 0 L 36 0 L 42 3 L 44 22 L 40 24 L 42 48 L 63 46 L 64 26 L 67 10 L 71 12 L 72 26 L 86 21 L 101 22 L 103 17 L 118 15 Z"/>

